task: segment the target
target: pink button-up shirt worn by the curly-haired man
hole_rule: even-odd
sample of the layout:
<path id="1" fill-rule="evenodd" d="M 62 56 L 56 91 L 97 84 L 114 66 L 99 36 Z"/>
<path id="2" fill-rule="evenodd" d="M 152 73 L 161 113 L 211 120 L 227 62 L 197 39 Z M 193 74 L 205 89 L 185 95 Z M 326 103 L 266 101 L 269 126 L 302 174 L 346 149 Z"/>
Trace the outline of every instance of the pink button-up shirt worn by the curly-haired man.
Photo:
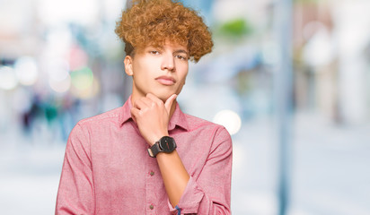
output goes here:
<path id="1" fill-rule="evenodd" d="M 172 208 L 130 99 L 78 122 L 66 144 L 56 214 L 230 214 L 232 141 L 221 125 L 181 112 L 169 133 L 190 179 Z"/>

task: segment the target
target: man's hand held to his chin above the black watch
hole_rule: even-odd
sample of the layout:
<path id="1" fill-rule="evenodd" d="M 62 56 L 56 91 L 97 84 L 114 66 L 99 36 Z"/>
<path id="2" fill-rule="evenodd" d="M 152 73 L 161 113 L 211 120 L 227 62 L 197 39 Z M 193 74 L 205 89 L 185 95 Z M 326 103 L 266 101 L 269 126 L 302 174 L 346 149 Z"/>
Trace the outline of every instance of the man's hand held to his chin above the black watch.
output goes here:
<path id="1" fill-rule="evenodd" d="M 148 93 L 146 97 L 135 100 L 131 115 L 141 135 L 150 146 L 163 136 L 168 136 L 168 122 L 172 104 L 176 98 L 177 95 L 173 94 L 163 103 L 161 99 Z"/>

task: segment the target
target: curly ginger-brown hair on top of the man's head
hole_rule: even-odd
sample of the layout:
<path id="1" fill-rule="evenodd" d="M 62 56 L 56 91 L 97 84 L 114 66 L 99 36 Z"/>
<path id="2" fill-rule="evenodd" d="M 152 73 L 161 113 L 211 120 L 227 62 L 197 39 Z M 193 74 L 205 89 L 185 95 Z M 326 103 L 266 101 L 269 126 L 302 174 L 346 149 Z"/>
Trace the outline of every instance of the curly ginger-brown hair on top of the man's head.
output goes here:
<path id="1" fill-rule="evenodd" d="M 139 0 L 122 12 L 116 34 L 128 56 L 146 46 L 162 47 L 166 40 L 188 47 L 189 58 L 198 62 L 212 51 L 210 30 L 198 13 L 172 0 Z"/>

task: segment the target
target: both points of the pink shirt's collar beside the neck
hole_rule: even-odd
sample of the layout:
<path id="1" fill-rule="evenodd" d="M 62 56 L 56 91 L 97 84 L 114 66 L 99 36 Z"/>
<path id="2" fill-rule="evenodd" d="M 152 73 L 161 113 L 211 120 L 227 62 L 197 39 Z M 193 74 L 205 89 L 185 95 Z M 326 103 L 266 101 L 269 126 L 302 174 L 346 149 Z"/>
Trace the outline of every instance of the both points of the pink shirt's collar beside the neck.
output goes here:
<path id="1" fill-rule="evenodd" d="M 119 125 L 123 125 L 126 122 L 128 122 L 128 120 L 132 120 L 131 107 L 132 104 L 130 96 L 128 100 L 125 102 L 125 104 L 122 106 L 121 111 L 119 112 Z M 186 131 L 189 130 L 189 125 L 186 120 L 186 116 L 181 111 L 178 103 L 176 103 L 175 111 L 173 112 L 172 118 L 168 124 L 168 130 L 172 131 L 176 127 L 176 125 Z"/>

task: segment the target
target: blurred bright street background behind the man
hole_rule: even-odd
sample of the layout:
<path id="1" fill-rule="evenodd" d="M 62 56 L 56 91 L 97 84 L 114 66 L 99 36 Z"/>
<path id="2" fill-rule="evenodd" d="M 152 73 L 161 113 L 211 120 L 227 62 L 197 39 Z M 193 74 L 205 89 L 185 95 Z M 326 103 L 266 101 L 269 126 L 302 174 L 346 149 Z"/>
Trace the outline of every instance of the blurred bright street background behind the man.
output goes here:
<path id="1" fill-rule="evenodd" d="M 233 214 L 370 214 L 370 1 L 182 2 L 215 49 L 178 101 L 232 134 Z M 127 4 L 0 0 L 2 214 L 53 214 L 71 129 L 128 99 Z"/>

